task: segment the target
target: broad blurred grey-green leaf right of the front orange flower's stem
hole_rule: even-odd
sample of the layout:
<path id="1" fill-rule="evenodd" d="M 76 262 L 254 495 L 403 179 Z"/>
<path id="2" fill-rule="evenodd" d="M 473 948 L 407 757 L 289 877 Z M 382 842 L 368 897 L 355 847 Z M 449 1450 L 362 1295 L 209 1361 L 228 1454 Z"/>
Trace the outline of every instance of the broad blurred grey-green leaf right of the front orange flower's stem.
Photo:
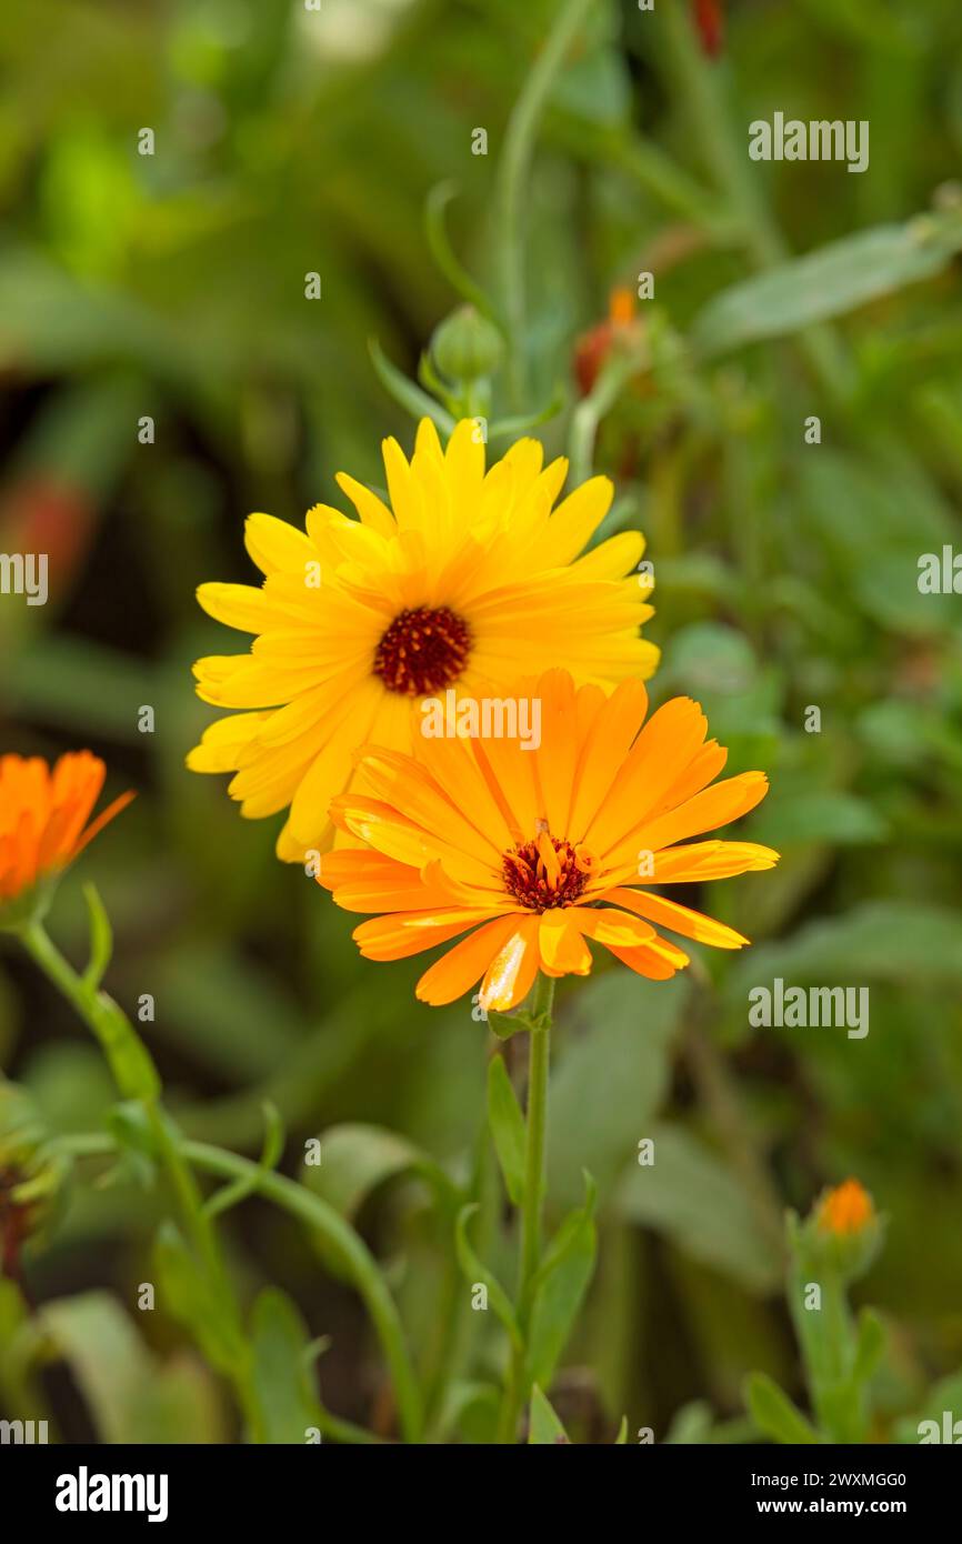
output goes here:
<path id="1" fill-rule="evenodd" d="M 771 1289 L 780 1275 L 778 1248 L 721 1155 L 678 1126 L 655 1126 L 647 1135 L 655 1161 L 624 1173 L 615 1194 L 621 1215 L 656 1227 L 693 1260 L 752 1291 Z"/>

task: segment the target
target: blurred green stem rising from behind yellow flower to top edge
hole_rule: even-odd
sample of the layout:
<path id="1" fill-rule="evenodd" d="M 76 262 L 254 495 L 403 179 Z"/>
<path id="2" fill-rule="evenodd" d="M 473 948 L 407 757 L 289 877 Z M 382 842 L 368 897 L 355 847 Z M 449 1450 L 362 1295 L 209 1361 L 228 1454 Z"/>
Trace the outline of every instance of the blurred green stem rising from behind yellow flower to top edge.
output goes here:
<path id="1" fill-rule="evenodd" d="M 525 405 L 525 242 L 522 208 L 534 136 L 554 77 L 594 0 L 567 0 L 520 90 L 505 130 L 500 164 L 500 270 L 510 341 L 510 384 L 516 409 Z"/>

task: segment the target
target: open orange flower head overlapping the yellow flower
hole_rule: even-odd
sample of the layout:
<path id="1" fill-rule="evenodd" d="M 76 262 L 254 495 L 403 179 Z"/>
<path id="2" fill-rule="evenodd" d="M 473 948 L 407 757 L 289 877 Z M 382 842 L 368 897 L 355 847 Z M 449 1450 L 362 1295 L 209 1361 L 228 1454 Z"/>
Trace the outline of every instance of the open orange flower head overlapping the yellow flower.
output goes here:
<path id="1" fill-rule="evenodd" d="M 716 948 L 747 939 L 652 885 L 767 869 L 749 841 L 696 841 L 767 792 L 763 772 L 713 783 L 727 752 L 706 741 L 698 703 L 673 698 L 645 721 L 641 681 L 611 693 L 550 670 L 531 687 L 536 749 L 514 738 L 423 738 L 414 753 L 368 747 L 334 801 L 344 834 L 320 883 L 347 911 L 361 954 L 401 959 L 459 939 L 422 976 L 423 1002 L 452 1002 L 479 980 L 483 1008 L 508 1010 L 539 970 L 587 976 L 588 942 L 666 980 L 689 956 L 661 928 Z M 712 786 L 709 786 L 712 784 Z"/>

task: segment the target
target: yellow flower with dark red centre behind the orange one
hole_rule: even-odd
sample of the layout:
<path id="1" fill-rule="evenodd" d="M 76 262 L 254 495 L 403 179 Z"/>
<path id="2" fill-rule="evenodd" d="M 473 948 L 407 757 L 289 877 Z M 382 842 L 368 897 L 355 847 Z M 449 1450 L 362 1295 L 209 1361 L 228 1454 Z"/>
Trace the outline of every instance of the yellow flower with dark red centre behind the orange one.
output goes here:
<path id="1" fill-rule="evenodd" d="M 201 585 L 205 611 L 253 633 L 249 653 L 198 661 L 198 693 L 232 709 L 187 764 L 233 772 L 250 818 L 289 809 L 278 855 L 306 862 L 332 838 L 327 809 L 364 741 L 409 752 L 426 698 L 497 696 L 520 673 L 564 661 L 574 679 L 610 687 L 649 676 L 658 648 L 638 636 L 652 615 L 638 574 L 638 533 L 584 553 L 611 502 L 591 477 L 557 506 L 564 459 L 542 466 L 519 440 L 485 471 L 476 420 L 446 451 L 425 420 L 406 460 L 384 442 L 389 505 L 338 476 L 357 510 L 326 505 L 300 531 L 247 520 L 259 588 Z M 581 556 L 579 556 L 581 554 Z"/>

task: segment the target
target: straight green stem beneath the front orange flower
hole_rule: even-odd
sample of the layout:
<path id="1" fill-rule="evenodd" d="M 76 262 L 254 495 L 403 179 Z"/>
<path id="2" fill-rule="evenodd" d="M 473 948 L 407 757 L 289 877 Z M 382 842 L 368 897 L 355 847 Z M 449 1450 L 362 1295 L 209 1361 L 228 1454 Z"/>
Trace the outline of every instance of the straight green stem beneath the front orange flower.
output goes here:
<path id="1" fill-rule="evenodd" d="M 522 1345 L 511 1356 L 505 1380 L 505 1396 L 497 1431 L 497 1439 L 503 1444 L 514 1442 L 517 1417 L 528 1396 L 525 1387 L 525 1359 L 534 1308 L 534 1278 L 540 1265 L 553 1002 L 554 980 L 551 976 L 539 974 L 530 1010 L 536 1027 L 530 1031 L 528 1038 L 525 1190 L 520 1206 L 520 1254 L 517 1269 L 517 1322 L 522 1332 Z"/>

